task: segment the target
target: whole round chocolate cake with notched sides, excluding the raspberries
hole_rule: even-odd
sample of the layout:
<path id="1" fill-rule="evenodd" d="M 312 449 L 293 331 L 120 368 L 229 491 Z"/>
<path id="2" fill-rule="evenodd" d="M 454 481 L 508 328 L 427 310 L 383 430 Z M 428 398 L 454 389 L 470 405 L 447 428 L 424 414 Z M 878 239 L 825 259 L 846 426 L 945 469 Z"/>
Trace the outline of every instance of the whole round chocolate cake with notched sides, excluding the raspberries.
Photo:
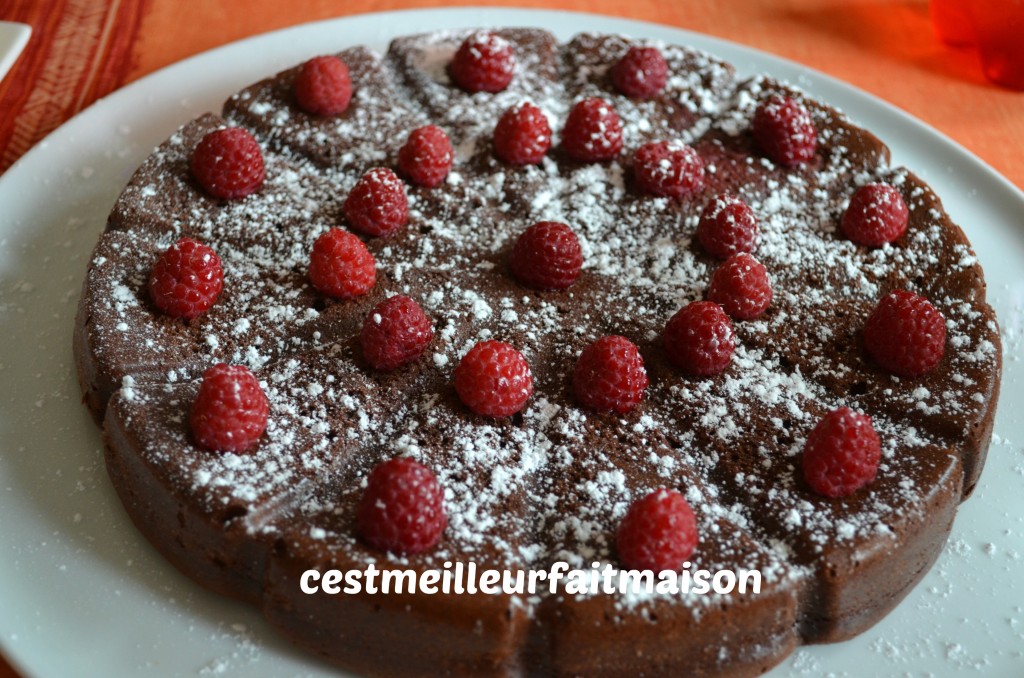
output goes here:
<path id="1" fill-rule="evenodd" d="M 925 575 L 959 502 L 978 481 L 1000 375 L 999 336 L 985 282 L 964 232 L 914 174 L 889 164 L 871 133 L 766 77 L 739 79 L 700 51 L 656 43 L 664 90 L 634 100 L 609 68 L 638 41 L 580 35 L 558 44 L 541 30 L 501 30 L 517 58 L 498 93 L 470 94 L 446 70 L 466 33 L 400 38 L 385 55 L 338 54 L 353 95 L 337 117 L 304 113 L 298 67 L 231 96 L 220 116 L 178 130 L 138 169 L 93 254 L 75 353 L 85 401 L 102 423 L 114 486 L 139 529 L 186 575 L 260 606 L 298 644 L 368 675 L 756 675 L 802 643 L 868 628 Z M 645 43 L 646 44 L 646 43 Z M 813 160 L 764 158 L 751 132 L 758 101 L 793 96 L 817 129 Z M 625 151 L 582 163 L 557 143 L 571 104 L 611 102 Z M 538 165 L 498 160 L 496 122 L 532 101 L 555 144 Z M 309 283 L 313 241 L 345 224 L 342 204 L 370 168 L 394 167 L 409 132 L 447 132 L 455 165 L 434 188 L 407 186 L 410 221 L 368 238 L 377 283 L 355 299 Z M 248 129 L 266 179 L 222 201 L 189 173 L 209 131 Z M 707 185 L 675 200 L 641 195 L 631 151 L 681 139 L 703 159 Z M 839 231 L 854 190 L 883 181 L 909 208 L 906 232 L 866 248 Z M 718 261 L 694 229 L 712 196 L 741 197 L 760 219 L 758 259 L 774 297 L 736 322 L 732 364 L 688 377 L 667 359 L 660 333 L 703 298 Z M 577 232 L 584 268 L 572 287 L 535 291 L 508 270 L 515 237 L 542 220 Z M 161 313 L 146 281 L 183 236 L 206 243 L 224 269 L 221 296 L 185 322 Z M 879 299 L 906 289 L 946 319 L 941 363 L 898 378 L 861 345 Z M 415 299 L 434 338 L 419 359 L 372 369 L 362 323 L 394 294 Z M 630 338 L 650 386 L 627 414 L 582 408 L 571 374 L 598 337 Z M 506 418 L 471 413 L 453 387 L 460 358 L 501 339 L 527 358 L 535 392 Z M 270 404 L 253 451 L 197 446 L 188 412 L 203 371 L 248 366 Z M 825 413 L 868 414 L 882 441 L 878 476 L 843 499 L 801 476 L 808 433 Z M 366 476 L 407 456 L 433 469 L 449 524 L 426 553 L 395 556 L 353 529 Z M 554 561 L 616 564 L 615 526 L 631 502 L 678 489 L 696 515 L 692 567 L 759 569 L 759 594 L 307 595 L 315 568 L 544 569 Z M 451 566 L 451 565 L 450 565 Z"/>

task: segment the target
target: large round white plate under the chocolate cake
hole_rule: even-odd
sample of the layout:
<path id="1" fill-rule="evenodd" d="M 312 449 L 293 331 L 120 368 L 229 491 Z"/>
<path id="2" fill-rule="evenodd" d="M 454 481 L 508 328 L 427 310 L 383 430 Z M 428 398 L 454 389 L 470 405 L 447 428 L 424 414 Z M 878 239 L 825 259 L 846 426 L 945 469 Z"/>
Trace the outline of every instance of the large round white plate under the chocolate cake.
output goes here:
<path id="1" fill-rule="evenodd" d="M 772 675 L 1020 675 L 1024 664 L 1024 195 L 896 109 L 804 67 L 676 29 L 526 10 L 354 16 L 252 38 L 186 59 L 96 102 L 0 179 L 0 645 L 38 676 L 322 675 L 259 613 L 191 583 L 135 532 L 79 402 L 71 336 L 86 261 L 134 168 L 179 124 L 244 85 L 348 45 L 470 26 L 623 32 L 702 47 L 742 73 L 797 82 L 880 134 L 964 224 L 1006 334 L 998 437 L 950 546 L 881 624 L 799 650 Z M 969 102 L 965 102 L 969 104 Z M 1013 441 L 1013 442 L 1010 442 Z M 1016 507 L 1015 507 L 1016 504 Z"/>

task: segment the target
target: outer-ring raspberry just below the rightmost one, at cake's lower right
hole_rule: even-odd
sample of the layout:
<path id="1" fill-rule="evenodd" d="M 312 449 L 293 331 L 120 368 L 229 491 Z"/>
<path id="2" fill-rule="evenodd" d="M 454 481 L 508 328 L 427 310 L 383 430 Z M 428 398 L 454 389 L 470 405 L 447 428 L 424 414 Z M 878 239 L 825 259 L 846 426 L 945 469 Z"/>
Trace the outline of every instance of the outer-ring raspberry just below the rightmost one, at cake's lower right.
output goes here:
<path id="1" fill-rule="evenodd" d="M 874 479 L 882 443 L 871 418 L 850 408 L 821 418 L 804 444 L 804 478 L 825 497 L 846 497 Z"/>

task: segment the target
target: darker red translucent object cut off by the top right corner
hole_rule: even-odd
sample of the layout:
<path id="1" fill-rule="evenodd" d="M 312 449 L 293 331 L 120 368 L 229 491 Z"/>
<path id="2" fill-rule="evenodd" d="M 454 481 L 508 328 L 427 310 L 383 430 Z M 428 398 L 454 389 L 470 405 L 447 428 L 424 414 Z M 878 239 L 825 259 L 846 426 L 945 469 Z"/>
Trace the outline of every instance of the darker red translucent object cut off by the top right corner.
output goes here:
<path id="1" fill-rule="evenodd" d="M 1024 90 L 1024 0 L 972 0 L 971 19 L 985 77 Z"/>

